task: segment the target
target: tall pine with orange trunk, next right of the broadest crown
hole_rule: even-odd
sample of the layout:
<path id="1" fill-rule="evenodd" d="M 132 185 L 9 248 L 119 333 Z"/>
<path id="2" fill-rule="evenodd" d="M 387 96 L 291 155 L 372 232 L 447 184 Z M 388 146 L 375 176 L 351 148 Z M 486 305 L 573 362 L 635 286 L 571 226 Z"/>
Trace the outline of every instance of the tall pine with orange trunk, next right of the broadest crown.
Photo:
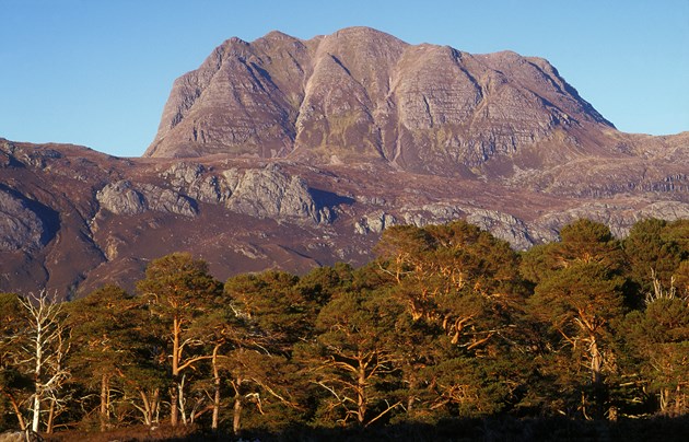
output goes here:
<path id="1" fill-rule="evenodd" d="M 542 359 L 550 367 L 544 372 L 553 373 L 572 400 L 582 398 L 584 416 L 602 418 L 608 403 L 605 373 L 615 370 L 614 323 L 624 312 L 622 254 L 607 226 L 593 221 L 567 225 L 561 236 L 522 264 L 541 265 L 524 272 L 537 279 L 528 307 L 551 332 L 546 344 L 551 353 Z"/>

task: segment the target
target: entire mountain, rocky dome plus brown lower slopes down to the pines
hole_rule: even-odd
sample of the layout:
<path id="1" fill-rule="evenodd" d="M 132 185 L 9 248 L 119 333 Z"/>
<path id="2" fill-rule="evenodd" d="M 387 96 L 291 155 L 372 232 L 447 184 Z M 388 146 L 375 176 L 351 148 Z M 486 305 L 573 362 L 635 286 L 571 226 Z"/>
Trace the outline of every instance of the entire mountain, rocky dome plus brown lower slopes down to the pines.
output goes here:
<path id="1" fill-rule="evenodd" d="M 173 85 L 140 159 L 0 139 L 0 290 L 131 289 L 174 251 L 219 278 L 363 264 L 464 218 L 516 248 L 588 217 L 689 218 L 689 132 L 615 129 L 546 60 L 365 27 L 231 38 Z"/>

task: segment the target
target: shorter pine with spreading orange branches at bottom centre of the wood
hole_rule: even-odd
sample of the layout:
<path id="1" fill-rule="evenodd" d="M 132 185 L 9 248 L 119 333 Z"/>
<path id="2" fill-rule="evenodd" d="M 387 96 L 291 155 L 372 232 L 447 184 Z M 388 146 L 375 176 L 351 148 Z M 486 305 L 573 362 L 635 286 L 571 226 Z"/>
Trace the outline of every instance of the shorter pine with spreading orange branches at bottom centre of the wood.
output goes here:
<path id="1" fill-rule="evenodd" d="M 367 426 L 401 405 L 398 321 L 404 307 L 384 292 L 344 292 L 320 311 L 316 338 L 301 347 L 313 368 L 310 382 L 322 388 L 317 419 L 324 424 Z"/>

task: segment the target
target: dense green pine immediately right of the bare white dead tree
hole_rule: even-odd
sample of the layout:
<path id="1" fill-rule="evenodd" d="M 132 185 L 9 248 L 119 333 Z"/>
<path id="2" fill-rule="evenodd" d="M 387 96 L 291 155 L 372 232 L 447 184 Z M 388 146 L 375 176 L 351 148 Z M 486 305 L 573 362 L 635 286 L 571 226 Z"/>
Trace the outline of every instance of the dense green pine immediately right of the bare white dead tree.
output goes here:
<path id="1" fill-rule="evenodd" d="M 74 349 L 69 367 L 84 396 L 80 408 L 101 430 L 137 421 L 141 393 L 165 385 L 164 342 L 140 301 L 105 286 L 67 304 Z"/>

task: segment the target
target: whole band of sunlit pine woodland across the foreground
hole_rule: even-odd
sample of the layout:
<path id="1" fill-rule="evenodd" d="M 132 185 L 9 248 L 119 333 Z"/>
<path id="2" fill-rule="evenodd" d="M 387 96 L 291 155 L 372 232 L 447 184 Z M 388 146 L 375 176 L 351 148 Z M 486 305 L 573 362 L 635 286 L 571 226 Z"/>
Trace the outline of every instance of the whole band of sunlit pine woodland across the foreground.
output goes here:
<path id="1" fill-rule="evenodd" d="M 521 253 L 464 221 L 394 226 L 375 252 L 361 268 L 224 283 L 175 253 L 152 260 L 135 293 L 108 284 L 62 303 L 0 293 L 0 432 L 689 433 L 689 220 L 640 221 L 622 240 L 579 220 Z"/>

